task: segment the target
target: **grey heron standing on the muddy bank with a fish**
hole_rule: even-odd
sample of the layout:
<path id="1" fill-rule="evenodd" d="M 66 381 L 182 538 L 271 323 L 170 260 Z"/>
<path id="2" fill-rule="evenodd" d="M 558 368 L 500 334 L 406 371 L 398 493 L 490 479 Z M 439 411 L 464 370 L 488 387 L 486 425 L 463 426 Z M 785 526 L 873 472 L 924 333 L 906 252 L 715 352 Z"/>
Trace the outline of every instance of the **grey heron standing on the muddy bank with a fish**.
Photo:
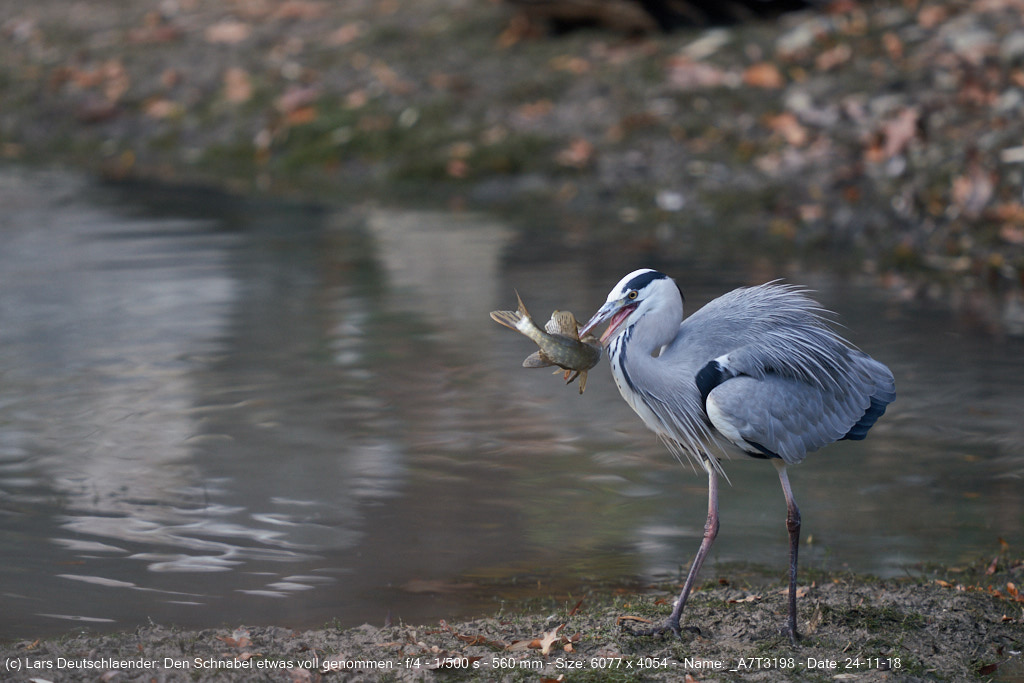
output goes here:
<path id="1" fill-rule="evenodd" d="M 708 473 L 703 539 L 672 613 L 643 635 L 680 634 L 679 620 L 718 535 L 716 453 L 737 446 L 778 470 L 790 536 L 786 631 L 796 642 L 800 509 L 786 466 L 841 439 L 862 439 L 896 397 L 890 370 L 826 324 L 799 287 L 777 282 L 729 292 L 683 318 L 675 281 L 643 268 L 623 278 L 583 327 L 608 322 L 601 341 L 626 402 L 680 460 Z"/>

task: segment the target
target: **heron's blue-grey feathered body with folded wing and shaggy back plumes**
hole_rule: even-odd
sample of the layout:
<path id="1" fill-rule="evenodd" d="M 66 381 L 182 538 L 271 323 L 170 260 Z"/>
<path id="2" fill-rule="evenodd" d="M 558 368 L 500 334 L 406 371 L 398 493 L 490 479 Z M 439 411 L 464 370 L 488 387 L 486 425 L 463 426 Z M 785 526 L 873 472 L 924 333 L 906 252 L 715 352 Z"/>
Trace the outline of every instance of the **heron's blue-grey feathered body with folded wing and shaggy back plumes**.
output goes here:
<path id="1" fill-rule="evenodd" d="M 657 357 L 627 361 L 642 378 L 635 384 L 649 415 L 637 412 L 696 457 L 714 441 L 711 427 L 751 455 L 786 462 L 863 438 L 895 398 L 893 376 L 837 335 L 823 312 L 777 284 L 715 299 L 682 322 Z"/>

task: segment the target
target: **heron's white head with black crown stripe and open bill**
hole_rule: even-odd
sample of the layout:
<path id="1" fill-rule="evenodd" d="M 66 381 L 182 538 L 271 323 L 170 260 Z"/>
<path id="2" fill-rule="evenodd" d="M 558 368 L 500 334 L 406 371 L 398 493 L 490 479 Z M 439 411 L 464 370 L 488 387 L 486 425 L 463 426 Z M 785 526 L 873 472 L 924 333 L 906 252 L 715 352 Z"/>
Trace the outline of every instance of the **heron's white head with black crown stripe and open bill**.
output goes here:
<path id="1" fill-rule="evenodd" d="M 601 342 L 606 343 L 644 315 L 659 311 L 674 317 L 673 323 L 678 326 L 683 316 L 682 295 L 675 281 L 664 272 L 641 268 L 618 281 L 580 334 L 585 335 L 607 321 L 608 328 L 601 335 Z"/>

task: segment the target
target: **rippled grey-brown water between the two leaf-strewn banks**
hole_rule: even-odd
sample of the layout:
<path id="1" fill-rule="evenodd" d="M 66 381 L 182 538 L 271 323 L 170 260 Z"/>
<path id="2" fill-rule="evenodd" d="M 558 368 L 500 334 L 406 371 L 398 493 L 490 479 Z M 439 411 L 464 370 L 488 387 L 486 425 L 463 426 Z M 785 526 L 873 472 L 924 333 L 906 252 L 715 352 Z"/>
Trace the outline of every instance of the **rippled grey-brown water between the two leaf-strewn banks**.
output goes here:
<path id="1" fill-rule="evenodd" d="M 705 478 L 603 364 L 580 396 L 487 317 L 513 288 L 589 315 L 635 254 L 55 173 L 0 172 L 0 637 L 436 621 L 689 562 Z M 809 285 L 896 374 L 867 440 L 792 471 L 807 565 L 891 575 L 1024 543 L 1024 345 L 821 272 L 664 267 L 690 310 Z M 781 573 L 774 470 L 726 470 L 706 572 Z"/>

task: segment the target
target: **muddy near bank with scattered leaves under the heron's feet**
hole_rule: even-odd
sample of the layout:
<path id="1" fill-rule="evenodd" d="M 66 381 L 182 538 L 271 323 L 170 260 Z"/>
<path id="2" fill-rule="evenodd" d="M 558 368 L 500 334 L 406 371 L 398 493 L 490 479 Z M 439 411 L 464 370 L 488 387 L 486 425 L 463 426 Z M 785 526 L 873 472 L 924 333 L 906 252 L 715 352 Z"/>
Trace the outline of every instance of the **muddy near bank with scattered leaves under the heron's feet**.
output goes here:
<path id="1" fill-rule="evenodd" d="M 241 626 L 24 640 L 0 646 L 6 680 L 52 681 L 1015 681 L 1024 677 L 1024 560 L 882 581 L 806 572 L 797 646 L 780 633 L 781 578 L 731 567 L 695 592 L 682 639 L 642 638 L 677 590 L 551 596 L 460 624 L 314 631 Z M 12 664 L 14 663 L 14 664 Z M 20 669 L 10 669 L 20 667 Z M 34 669 L 30 670 L 32 667 Z M 559 678 L 559 677 L 563 678 Z"/>

